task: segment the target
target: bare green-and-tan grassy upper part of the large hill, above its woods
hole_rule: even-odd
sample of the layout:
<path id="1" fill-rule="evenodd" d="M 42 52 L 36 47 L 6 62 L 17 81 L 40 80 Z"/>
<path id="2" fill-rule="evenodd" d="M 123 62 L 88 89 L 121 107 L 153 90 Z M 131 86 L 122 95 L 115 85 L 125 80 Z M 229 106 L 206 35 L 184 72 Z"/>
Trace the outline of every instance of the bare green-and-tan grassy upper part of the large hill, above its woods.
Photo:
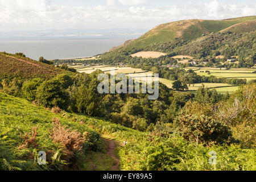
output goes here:
<path id="1" fill-rule="evenodd" d="M 173 42 L 175 39 L 193 40 L 203 34 L 224 30 L 234 24 L 255 20 L 256 16 L 246 16 L 224 20 L 181 20 L 177 22 L 164 23 L 152 28 L 140 38 L 126 44 L 125 47 L 145 48 L 154 43 Z M 244 24 L 240 24 L 240 27 Z M 255 28 L 255 24 L 253 26 Z"/>

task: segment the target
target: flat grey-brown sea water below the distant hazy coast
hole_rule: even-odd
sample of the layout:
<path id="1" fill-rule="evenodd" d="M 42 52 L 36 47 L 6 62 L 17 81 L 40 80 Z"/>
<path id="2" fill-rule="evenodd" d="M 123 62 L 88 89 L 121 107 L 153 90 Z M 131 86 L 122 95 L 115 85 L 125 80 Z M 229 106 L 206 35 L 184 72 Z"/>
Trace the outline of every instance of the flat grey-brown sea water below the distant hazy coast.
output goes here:
<path id="1" fill-rule="evenodd" d="M 127 39 L 39 39 L 0 40 L 0 52 L 23 52 L 27 57 L 44 59 L 74 59 L 95 56 L 119 46 Z"/>

